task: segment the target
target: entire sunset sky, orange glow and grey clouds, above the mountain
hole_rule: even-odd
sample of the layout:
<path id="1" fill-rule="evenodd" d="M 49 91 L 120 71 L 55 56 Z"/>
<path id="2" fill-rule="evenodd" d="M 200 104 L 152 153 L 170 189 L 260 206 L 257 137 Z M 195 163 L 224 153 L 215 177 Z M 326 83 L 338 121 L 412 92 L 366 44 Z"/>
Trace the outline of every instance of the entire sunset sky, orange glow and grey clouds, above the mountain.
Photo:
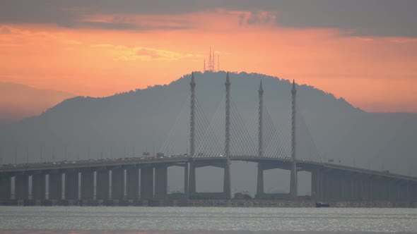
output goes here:
<path id="1" fill-rule="evenodd" d="M 416 9 L 413 0 L 0 0 L 0 81 L 102 97 L 202 70 L 211 46 L 221 70 L 295 79 L 365 111 L 417 112 Z"/>

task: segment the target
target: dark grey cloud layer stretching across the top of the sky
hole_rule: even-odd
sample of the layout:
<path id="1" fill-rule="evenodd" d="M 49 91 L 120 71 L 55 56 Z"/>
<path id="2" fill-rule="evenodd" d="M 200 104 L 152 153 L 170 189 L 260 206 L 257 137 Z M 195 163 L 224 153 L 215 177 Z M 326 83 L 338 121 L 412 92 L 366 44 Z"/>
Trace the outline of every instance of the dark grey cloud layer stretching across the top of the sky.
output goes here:
<path id="1" fill-rule="evenodd" d="M 133 23 L 79 21 L 83 16 L 98 13 L 172 15 L 216 8 L 254 13 L 271 11 L 276 13 L 276 23 L 281 27 L 339 28 L 349 35 L 417 37 L 417 1 L 414 0 L 0 0 L 0 23 L 148 30 Z M 256 16 L 245 22 L 237 18 L 237 23 L 257 23 Z"/>

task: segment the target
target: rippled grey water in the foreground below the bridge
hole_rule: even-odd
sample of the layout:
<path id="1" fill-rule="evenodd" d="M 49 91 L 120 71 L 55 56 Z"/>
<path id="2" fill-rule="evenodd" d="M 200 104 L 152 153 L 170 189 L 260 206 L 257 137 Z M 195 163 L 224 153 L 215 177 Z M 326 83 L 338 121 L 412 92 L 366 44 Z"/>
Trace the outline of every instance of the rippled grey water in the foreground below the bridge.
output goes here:
<path id="1" fill-rule="evenodd" d="M 417 209 L 0 207 L 0 233 L 417 233 Z"/>

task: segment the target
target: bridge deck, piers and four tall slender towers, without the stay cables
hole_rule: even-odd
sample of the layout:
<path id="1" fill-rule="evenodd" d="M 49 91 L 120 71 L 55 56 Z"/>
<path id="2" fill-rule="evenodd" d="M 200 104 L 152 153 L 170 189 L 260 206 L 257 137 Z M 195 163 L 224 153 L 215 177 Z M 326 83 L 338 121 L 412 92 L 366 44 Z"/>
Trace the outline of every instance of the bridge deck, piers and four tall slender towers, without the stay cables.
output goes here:
<path id="1" fill-rule="evenodd" d="M 247 145 L 239 137 L 245 131 L 233 132 L 233 103 L 230 102 L 229 75 L 225 81 L 225 131 L 224 147 L 216 152 L 213 144 L 201 147 L 196 138 L 201 137 L 196 118 L 194 73 L 190 82 L 189 154 L 163 157 L 130 157 L 107 160 L 61 161 L 38 164 L 0 165 L 1 204 L 97 204 L 124 201 L 163 201 L 177 199 L 231 199 L 230 161 L 250 161 L 257 164 L 257 192 L 255 199 L 300 200 L 320 202 L 334 201 L 383 201 L 393 206 L 416 206 L 417 178 L 389 171 L 374 171 L 351 166 L 323 163 L 321 160 L 305 160 L 298 156 L 296 128 L 296 90 L 293 82 L 290 154 L 267 154 L 262 80 L 259 85 L 259 115 L 257 150 L 249 153 Z M 204 131 L 207 132 L 206 126 Z M 216 142 L 208 136 L 205 142 Z M 214 140 L 213 140 L 214 138 Z M 247 137 L 249 139 L 250 137 Z M 274 137 L 272 138 L 275 139 Z M 271 140 L 271 139 L 269 139 Z M 204 142 L 204 141 L 203 141 Z M 278 142 L 272 142 L 274 145 Z M 210 152 L 201 151 L 207 149 Z M 236 153 L 243 149 L 242 153 Z M 168 195 L 168 167 L 184 168 L 184 192 Z M 196 170 L 205 166 L 223 168 L 223 192 L 197 192 Z M 280 168 L 290 171 L 290 192 L 270 194 L 264 192 L 264 171 Z M 311 175 L 311 197 L 298 195 L 298 173 Z M 413 204 L 413 205 L 411 205 Z"/>

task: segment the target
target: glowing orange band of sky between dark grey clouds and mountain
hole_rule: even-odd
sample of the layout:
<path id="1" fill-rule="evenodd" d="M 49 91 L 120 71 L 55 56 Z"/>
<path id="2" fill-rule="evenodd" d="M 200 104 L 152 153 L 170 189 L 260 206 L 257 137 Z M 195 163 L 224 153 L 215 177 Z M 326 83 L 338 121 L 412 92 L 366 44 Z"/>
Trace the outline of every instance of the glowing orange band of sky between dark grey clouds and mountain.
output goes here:
<path id="1" fill-rule="evenodd" d="M 220 54 L 221 70 L 295 79 L 365 111 L 417 112 L 417 39 L 358 37 L 336 28 L 268 22 L 240 24 L 242 16 L 249 17 L 249 12 L 128 16 L 134 23 L 155 27 L 136 31 L 3 24 L 0 81 L 102 97 L 167 84 L 202 70 L 211 46 Z M 88 18 L 110 19 L 114 16 Z"/>

